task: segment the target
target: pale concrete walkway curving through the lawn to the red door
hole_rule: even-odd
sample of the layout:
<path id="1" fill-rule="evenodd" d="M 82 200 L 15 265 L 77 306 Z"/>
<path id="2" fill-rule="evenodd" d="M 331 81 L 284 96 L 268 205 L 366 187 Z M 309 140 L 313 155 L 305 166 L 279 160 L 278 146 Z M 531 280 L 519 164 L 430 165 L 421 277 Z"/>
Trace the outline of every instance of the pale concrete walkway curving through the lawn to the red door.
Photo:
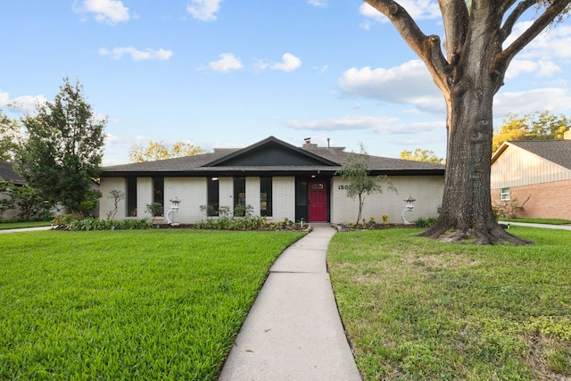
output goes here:
<path id="1" fill-rule="evenodd" d="M 280 255 L 236 336 L 220 381 L 361 380 L 327 273 L 335 228 L 314 225 Z"/>

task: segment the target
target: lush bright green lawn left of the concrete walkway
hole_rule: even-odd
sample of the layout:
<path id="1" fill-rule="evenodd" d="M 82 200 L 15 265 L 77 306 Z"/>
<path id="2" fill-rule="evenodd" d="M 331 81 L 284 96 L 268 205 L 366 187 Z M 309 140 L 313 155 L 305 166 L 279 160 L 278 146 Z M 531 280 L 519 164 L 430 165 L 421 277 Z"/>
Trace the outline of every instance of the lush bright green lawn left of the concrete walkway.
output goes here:
<path id="1" fill-rule="evenodd" d="M 216 379 L 294 232 L 0 236 L 0 379 Z"/>

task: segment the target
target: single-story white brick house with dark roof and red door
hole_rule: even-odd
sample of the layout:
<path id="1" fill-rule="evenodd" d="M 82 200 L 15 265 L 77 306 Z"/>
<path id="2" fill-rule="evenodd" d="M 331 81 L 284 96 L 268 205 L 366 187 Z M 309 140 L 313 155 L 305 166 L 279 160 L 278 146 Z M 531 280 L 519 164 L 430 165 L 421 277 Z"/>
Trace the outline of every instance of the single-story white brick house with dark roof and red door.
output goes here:
<path id="1" fill-rule="evenodd" d="M 178 199 L 179 223 L 206 219 L 204 213 L 236 205 L 252 205 L 253 213 L 268 219 L 308 222 L 354 222 L 359 203 L 347 197 L 349 180 L 335 176 L 351 153 L 343 147 L 319 147 L 310 139 L 302 147 L 268 137 L 243 149 L 215 149 L 213 153 L 137 162 L 103 168 L 101 175 L 102 218 L 114 209 L 111 192 L 124 192 L 116 219 L 150 218 L 146 205 L 161 203 L 159 221 Z M 377 221 L 382 215 L 389 223 L 400 223 L 404 199 L 412 195 L 415 208 L 410 221 L 437 215 L 444 185 L 444 166 L 369 156 L 370 175 L 387 175 L 398 194 L 368 195 L 363 218 Z M 202 207 L 202 208 L 201 208 Z M 216 215 L 216 212 L 211 212 Z M 212 217 L 216 218 L 216 217 Z M 155 219 L 156 221 L 156 219 Z"/>

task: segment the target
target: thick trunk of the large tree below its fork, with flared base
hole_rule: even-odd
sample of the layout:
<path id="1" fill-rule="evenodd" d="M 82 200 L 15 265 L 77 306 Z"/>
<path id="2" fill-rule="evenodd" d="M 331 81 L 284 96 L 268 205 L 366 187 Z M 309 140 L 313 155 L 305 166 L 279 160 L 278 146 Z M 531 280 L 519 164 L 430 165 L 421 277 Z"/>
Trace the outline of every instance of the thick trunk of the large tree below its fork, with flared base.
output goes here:
<path id="1" fill-rule="evenodd" d="M 421 236 L 447 241 L 475 238 L 476 244 L 526 244 L 501 228 L 492 213 L 493 90 L 469 87 L 451 98 L 442 209 L 436 223 Z"/>

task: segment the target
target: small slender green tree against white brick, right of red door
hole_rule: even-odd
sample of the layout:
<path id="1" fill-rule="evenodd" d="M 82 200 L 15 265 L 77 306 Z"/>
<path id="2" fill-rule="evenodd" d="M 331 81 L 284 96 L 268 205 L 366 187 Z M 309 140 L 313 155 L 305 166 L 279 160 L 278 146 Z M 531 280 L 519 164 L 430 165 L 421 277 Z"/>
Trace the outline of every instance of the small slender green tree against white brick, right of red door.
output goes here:
<path id="1" fill-rule="evenodd" d="M 341 176 L 349 181 L 347 197 L 359 198 L 359 213 L 357 222 L 359 223 L 365 205 L 365 196 L 383 193 L 382 183 L 387 184 L 387 190 L 396 192 L 393 182 L 386 176 L 370 176 L 368 171 L 369 157 L 365 147 L 360 145 L 360 153 L 351 153 L 349 159 L 343 164 L 341 169 L 335 172 L 336 176 Z"/>

